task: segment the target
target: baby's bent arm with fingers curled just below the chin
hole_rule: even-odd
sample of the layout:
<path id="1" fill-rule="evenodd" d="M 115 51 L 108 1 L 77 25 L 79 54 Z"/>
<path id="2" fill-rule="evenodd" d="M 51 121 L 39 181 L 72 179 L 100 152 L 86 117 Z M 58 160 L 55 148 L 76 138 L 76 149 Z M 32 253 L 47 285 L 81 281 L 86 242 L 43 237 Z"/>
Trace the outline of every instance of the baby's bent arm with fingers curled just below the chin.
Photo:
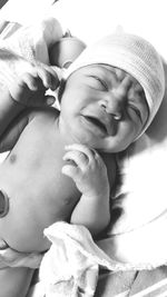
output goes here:
<path id="1" fill-rule="evenodd" d="M 62 167 L 82 194 L 71 215 L 71 222 L 86 226 L 92 235 L 102 231 L 110 220 L 109 182 L 101 157 L 82 145 L 67 147 L 63 159 L 72 161 Z"/>

